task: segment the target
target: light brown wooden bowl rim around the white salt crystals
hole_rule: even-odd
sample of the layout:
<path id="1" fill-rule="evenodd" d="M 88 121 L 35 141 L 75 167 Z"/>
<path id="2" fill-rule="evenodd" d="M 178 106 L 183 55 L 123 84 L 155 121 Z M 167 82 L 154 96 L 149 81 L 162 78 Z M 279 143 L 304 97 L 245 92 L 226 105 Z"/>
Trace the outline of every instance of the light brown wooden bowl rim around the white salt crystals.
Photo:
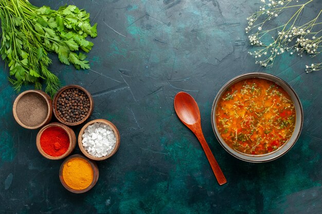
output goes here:
<path id="1" fill-rule="evenodd" d="M 87 128 L 87 126 L 92 125 L 94 123 L 104 123 L 104 124 L 110 126 L 115 133 L 115 138 L 116 138 L 115 148 L 113 149 L 113 151 L 109 155 L 106 155 L 104 157 L 95 157 L 95 156 L 91 155 L 90 153 L 88 153 L 85 150 L 85 148 L 82 144 L 82 140 L 83 140 L 82 135 L 83 135 L 85 129 Z M 96 161 L 102 161 L 102 160 L 112 157 L 115 154 L 115 152 L 118 150 L 118 147 L 120 146 L 120 133 L 119 133 L 118 129 L 116 128 L 116 126 L 113 123 L 111 123 L 110 121 L 104 120 L 104 119 L 96 119 L 96 120 L 86 123 L 83 126 L 83 128 L 80 130 L 79 135 L 78 135 L 78 146 L 87 158 L 90 158 L 90 159 L 96 160 Z"/>

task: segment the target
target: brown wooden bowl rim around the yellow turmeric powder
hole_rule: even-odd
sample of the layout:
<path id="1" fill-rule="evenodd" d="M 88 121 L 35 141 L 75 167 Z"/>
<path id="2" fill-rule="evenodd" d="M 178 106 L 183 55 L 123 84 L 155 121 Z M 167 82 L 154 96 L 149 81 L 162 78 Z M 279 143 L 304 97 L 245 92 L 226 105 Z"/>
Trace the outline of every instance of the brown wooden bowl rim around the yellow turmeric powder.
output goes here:
<path id="1" fill-rule="evenodd" d="M 64 168 L 64 165 L 71 159 L 74 159 L 74 158 L 81 158 L 85 161 L 87 161 L 91 166 L 92 166 L 92 169 L 93 169 L 93 181 L 92 183 L 90 184 L 90 186 L 86 187 L 85 189 L 73 189 L 73 188 L 70 188 L 66 182 L 64 181 L 64 178 L 63 178 L 63 168 Z M 98 166 L 97 164 L 90 160 L 90 159 L 87 159 L 85 158 L 83 155 L 81 154 L 73 154 L 73 155 L 70 155 L 68 158 L 66 158 L 64 160 L 64 162 L 62 163 L 62 165 L 60 166 L 60 169 L 59 169 L 59 179 L 60 179 L 60 182 L 62 183 L 62 185 L 70 192 L 74 192 L 74 193 L 83 193 L 83 192 L 87 192 L 88 190 L 92 189 L 95 184 L 97 183 L 97 180 L 98 180 L 98 177 L 99 177 L 99 171 L 98 171 Z"/>

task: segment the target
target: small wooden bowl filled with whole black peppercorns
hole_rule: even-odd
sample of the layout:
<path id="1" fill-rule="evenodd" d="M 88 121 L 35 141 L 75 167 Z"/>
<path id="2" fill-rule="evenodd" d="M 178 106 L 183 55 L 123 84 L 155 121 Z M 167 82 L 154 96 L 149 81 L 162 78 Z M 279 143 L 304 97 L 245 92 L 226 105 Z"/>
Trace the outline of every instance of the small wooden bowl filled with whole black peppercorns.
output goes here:
<path id="1" fill-rule="evenodd" d="M 53 98 L 53 114 L 67 126 L 76 126 L 92 114 L 94 102 L 90 92 L 79 85 L 62 87 Z"/>

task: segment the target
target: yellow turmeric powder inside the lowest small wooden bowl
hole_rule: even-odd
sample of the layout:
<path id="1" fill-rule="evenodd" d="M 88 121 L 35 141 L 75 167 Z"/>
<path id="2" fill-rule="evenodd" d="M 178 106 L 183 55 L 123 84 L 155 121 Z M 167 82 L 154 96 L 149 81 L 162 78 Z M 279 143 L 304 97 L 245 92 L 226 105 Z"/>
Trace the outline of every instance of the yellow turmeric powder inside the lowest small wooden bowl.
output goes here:
<path id="1" fill-rule="evenodd" d="M 73 158 L 64 164 L 62 176 L 67 186 L 75 190 L 82 190 L 92 183 L 94 171 L 86 160 Z"/>

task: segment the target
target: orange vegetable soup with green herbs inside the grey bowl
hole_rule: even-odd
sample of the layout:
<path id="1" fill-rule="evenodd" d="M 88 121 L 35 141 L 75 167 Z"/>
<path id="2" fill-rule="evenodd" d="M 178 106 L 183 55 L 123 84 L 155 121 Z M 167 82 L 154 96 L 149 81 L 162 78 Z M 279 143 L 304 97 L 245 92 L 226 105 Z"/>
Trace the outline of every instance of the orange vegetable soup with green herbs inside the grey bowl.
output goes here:
<path id="1" fill-rule="evenodd" d="M 232 149 L 265 154 L 290 139 L 295 109 L 289 94 L 280 86 L 252 78 L 232 85 L 223 94 L 216 121 L 221 137 Z"/>

